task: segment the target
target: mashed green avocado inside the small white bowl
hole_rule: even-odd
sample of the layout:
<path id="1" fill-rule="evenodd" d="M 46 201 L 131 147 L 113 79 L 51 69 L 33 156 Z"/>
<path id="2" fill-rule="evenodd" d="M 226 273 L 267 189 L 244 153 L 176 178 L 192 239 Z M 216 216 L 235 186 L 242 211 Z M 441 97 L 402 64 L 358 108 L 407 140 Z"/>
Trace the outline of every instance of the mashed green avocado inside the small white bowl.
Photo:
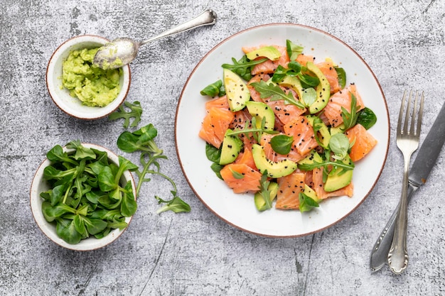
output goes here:
<path id="1" fill-rule="evenodd" d="M 122 69 L 103 70 L 92 60 L 99 48 L 73 50 L 63 62 L 63 87 L 86 106 L 107 106 L 119 94 Z"/>

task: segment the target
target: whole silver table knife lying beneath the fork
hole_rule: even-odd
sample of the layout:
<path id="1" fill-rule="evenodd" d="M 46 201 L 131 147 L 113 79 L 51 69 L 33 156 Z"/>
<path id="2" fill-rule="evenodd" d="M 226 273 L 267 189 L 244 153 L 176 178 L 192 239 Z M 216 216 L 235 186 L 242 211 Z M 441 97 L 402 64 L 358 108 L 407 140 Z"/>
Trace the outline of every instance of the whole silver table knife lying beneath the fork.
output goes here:
<path id="1" fill-rule="evenodd" d="M 441 153 L 442 146 L 445 142 L 445 104 L 442 105 L 439 114 L 434 120 L 427 137 L 425 137 L 422 146 L 417 152 L 417 156 L 409 170 L 408 183 L 408 202 L 412 195 L 420 186 L 427 182 L 429 172 L 436 164 L 436 160 Z M 380 270 L 387 263 L 388 252 L 392 243 L 392 235 L 394 234 L 395 218 L 399 209 L 399 204 L 392 213 L 390 220 L 387 222 L 379 238 L 375 242 L 370 258 L 370 268 L 372 272 Z"/>

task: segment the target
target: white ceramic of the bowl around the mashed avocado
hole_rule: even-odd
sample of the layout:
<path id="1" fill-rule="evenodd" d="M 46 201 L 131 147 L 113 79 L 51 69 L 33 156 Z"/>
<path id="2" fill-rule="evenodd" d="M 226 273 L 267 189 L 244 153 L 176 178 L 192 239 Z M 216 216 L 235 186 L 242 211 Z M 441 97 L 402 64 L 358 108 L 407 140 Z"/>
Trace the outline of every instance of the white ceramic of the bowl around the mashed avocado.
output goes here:
<path id="1" fill-rule="evenodd" d="M 80 99 L 71 97 L 62 85 L 62 65 L 73 50 L 97 48 L 109 42 L 107 38 L 96 35 L 80 35 L 65 41 L 51 56 L 46 69 L 46 86 L 53 102 L 66 114 L 78 119 L 100 119 L 116 110 L 125 100 L 130 88 L 131 72 L 129 65 L 122 67 L 123 75 L 119 82 L 120 92 L 107 106 L 85 106 Z"/>

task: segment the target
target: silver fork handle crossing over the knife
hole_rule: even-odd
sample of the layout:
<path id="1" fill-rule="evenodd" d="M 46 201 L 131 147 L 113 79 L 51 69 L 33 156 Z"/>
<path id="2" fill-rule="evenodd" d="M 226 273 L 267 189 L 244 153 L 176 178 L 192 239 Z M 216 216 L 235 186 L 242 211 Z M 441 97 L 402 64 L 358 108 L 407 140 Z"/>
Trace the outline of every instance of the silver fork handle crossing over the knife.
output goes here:
<path id="1" fill-rule="evenodd" d="M 404 155 L 404 171 L 402 182 L 402 196 L 400 197 L 399 211 L 395 221 L 394 236 L 392 245 L 388 253 L 388 265 L 393 273 L 400 274 L 407 268 L 407 224 L 408 224 L 408 174 L 409 158 L 411 155 Z"/>

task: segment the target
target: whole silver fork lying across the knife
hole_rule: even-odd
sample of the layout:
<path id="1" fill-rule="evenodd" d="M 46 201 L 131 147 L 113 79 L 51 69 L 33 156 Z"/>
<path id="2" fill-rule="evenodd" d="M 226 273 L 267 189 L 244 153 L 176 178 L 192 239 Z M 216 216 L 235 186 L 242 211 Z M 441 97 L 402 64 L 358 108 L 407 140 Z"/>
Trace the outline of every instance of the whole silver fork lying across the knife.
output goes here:
<path id="1" fill-rule="evenodd" d="M 388 253 L 388 265 L 393 273 L 402 273 L 408 265 L 407 252 L 407 190 L 408 190 L 408 174 L 409 160 L 412 153 L 419 147 L 420 126 L 422 126 L 422 114 L 424 111 L 424 95 L 420 99 L 420 108 L 417 111 L 419 95 L 415 94 L 414 106 L 411 113 L 412 92 L 409 92 L 407 109 L 404 111 L 404 105 L 407 101 L 407 92 L 403 94 L 402 105 L 400 106 L 399 121 L 397 124 L 397 147 L 402 151 L 404 158 L 404 171 L 402 182 L 402 195 L 400 196 L 400 207 L 397 212 L 394 236 L 392 245 Z M 403 120 L 404 118 L 404 120 Z M 417 128 L 414 130 L 414 126 Z M 409 129 L 408 129 L 409 126 Z"/>

